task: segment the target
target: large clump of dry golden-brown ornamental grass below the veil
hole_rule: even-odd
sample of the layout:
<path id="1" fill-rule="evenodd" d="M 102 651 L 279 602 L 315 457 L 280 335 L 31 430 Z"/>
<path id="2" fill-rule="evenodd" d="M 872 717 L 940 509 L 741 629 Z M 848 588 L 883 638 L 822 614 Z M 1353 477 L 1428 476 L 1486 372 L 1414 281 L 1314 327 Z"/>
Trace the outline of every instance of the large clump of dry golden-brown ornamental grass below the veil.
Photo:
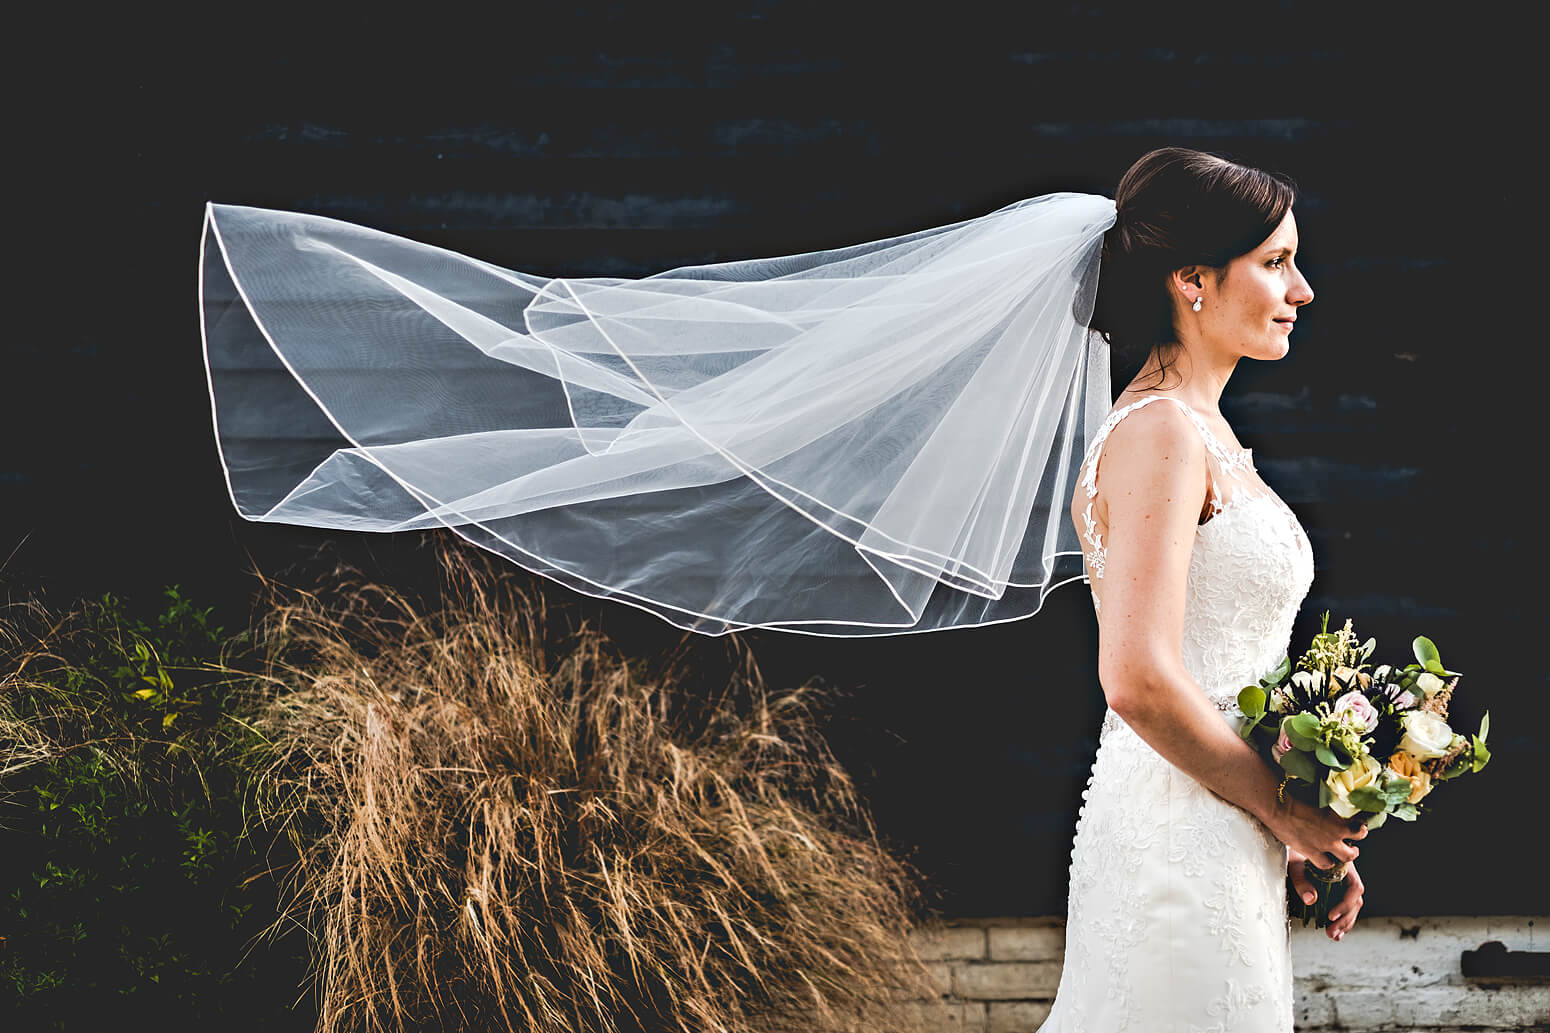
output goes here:
<path id="1" fill-rule="evenodd" d="M 443 597 L 274 589 L 267 816 L 302 853 L 319 1030 L 905 1030 L 914 883 L 815 689 L 688 639 L 631 662 L 488 561 Z M 546 636 L 550 636 L 546 644 Z M 708 650 L 719 661 L 707 661 Z M 708 670 L 718 670 L 711 678 Z"/>

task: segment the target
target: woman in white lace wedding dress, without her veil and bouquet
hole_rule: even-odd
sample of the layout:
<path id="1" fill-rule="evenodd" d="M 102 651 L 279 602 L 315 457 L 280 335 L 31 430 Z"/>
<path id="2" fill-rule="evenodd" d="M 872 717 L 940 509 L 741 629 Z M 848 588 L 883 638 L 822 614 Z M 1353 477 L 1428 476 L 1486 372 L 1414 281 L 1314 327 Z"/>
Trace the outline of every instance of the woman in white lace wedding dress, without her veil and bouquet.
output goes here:
<path id="1" fill-rule="evenodd" d="M 1285 878 L 1352 861 L 1366 827 L 1279 800 L 1237 690 L 1286 651 L 1308 538 L 1218 413 L 1240 358 L 1286 354 L 1313 290 L 1291 188 L 1166 147 L 1116 192 L 1093 326 L 1144 354 L 1088 447 L 1083 541 L 1108 713 L 1071 853 L 1046 1033 L 1290 1033 Z M 1361 910 L 1348 867 L 1327 934 Z"/>

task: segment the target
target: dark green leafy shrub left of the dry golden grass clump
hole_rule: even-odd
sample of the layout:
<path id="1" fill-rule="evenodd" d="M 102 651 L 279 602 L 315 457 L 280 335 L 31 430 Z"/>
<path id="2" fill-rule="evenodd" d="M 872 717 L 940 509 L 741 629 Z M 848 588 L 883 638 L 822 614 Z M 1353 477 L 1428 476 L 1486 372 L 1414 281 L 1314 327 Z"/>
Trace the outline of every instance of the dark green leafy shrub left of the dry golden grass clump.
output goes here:
<path id="1" fill-rule="evenodd" d="M 299 935 L 250 836 L 256 734 L 208 610 L 108 594 L 0 622 L 0 994 L 11 1028 L 310 1030 Z M 251 689 L 250 689 L 251 690 Z M 281 848 L 284 853 L 284 848 Z M 251 954 L 250 954 L 251 951 Z M 301 997 L 301 1008 L 293 1007 Z"/>

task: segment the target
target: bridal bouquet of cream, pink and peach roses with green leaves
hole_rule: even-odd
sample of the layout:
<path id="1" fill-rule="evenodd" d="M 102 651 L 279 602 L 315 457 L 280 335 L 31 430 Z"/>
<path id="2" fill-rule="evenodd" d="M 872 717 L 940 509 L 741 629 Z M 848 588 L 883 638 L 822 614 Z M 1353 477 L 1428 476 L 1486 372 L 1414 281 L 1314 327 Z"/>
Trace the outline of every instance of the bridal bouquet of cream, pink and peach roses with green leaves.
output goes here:
<path id="1" fill-rule="evenodd" d="M 1373 639 L 1356 644 L 1350 620 L 1330 631 L 1325 613 L 1296 670 L 1282 659 L 1238 693 L 1248 717 L 1240 734 L 1285 772 L 1282 793 L 1297 791 L 1310 803 L 1316 796 L 1319 807 L 1341 817 L 1366 814 L 1367 828 L 1389 816 L 1415 821 L 1437 782 L 1479 771 L 1491 758 L 1490 713 L 1471 737 L 1449 727 L 1459 673 L 1443 667 L 1431 639 L 1415 639 L 1417 662 L 1404 667 L 1369 670 L 1375 648 Z M 1310 862 L 1308 876 L 1318 898 L 1304 904 L 1290 893 L 1288 907 L 1304 924 L 1322 929 L 1344 893 L 1345 865 L 1325 870 Z"/>

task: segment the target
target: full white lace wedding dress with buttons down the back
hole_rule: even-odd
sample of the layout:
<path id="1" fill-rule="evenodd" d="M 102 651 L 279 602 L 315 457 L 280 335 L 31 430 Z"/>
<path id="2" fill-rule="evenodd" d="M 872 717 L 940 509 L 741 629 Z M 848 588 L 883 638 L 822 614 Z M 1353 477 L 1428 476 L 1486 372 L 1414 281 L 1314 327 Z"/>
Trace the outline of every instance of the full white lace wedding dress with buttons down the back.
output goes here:
<path id="1" fill-rule="evenodd" d="M 1079 530 L 1102 622 L 1104 535 L 1091 501 L 1119 420 L 1176 402 L 1206 444 L 1211 518 L 1189 563 L 1184 667 L 1229 721 L 1237 693 L 1286 653 L 1313 580 L 1296 516 L 1187 405 L 1116 409 L 1082 473 Z M 1065 968 L 1043 1033 L 1291 1033 L 1286 848 L 1242 808 L 1158 755 L 1111 710 L 1071 852 Z"/>

